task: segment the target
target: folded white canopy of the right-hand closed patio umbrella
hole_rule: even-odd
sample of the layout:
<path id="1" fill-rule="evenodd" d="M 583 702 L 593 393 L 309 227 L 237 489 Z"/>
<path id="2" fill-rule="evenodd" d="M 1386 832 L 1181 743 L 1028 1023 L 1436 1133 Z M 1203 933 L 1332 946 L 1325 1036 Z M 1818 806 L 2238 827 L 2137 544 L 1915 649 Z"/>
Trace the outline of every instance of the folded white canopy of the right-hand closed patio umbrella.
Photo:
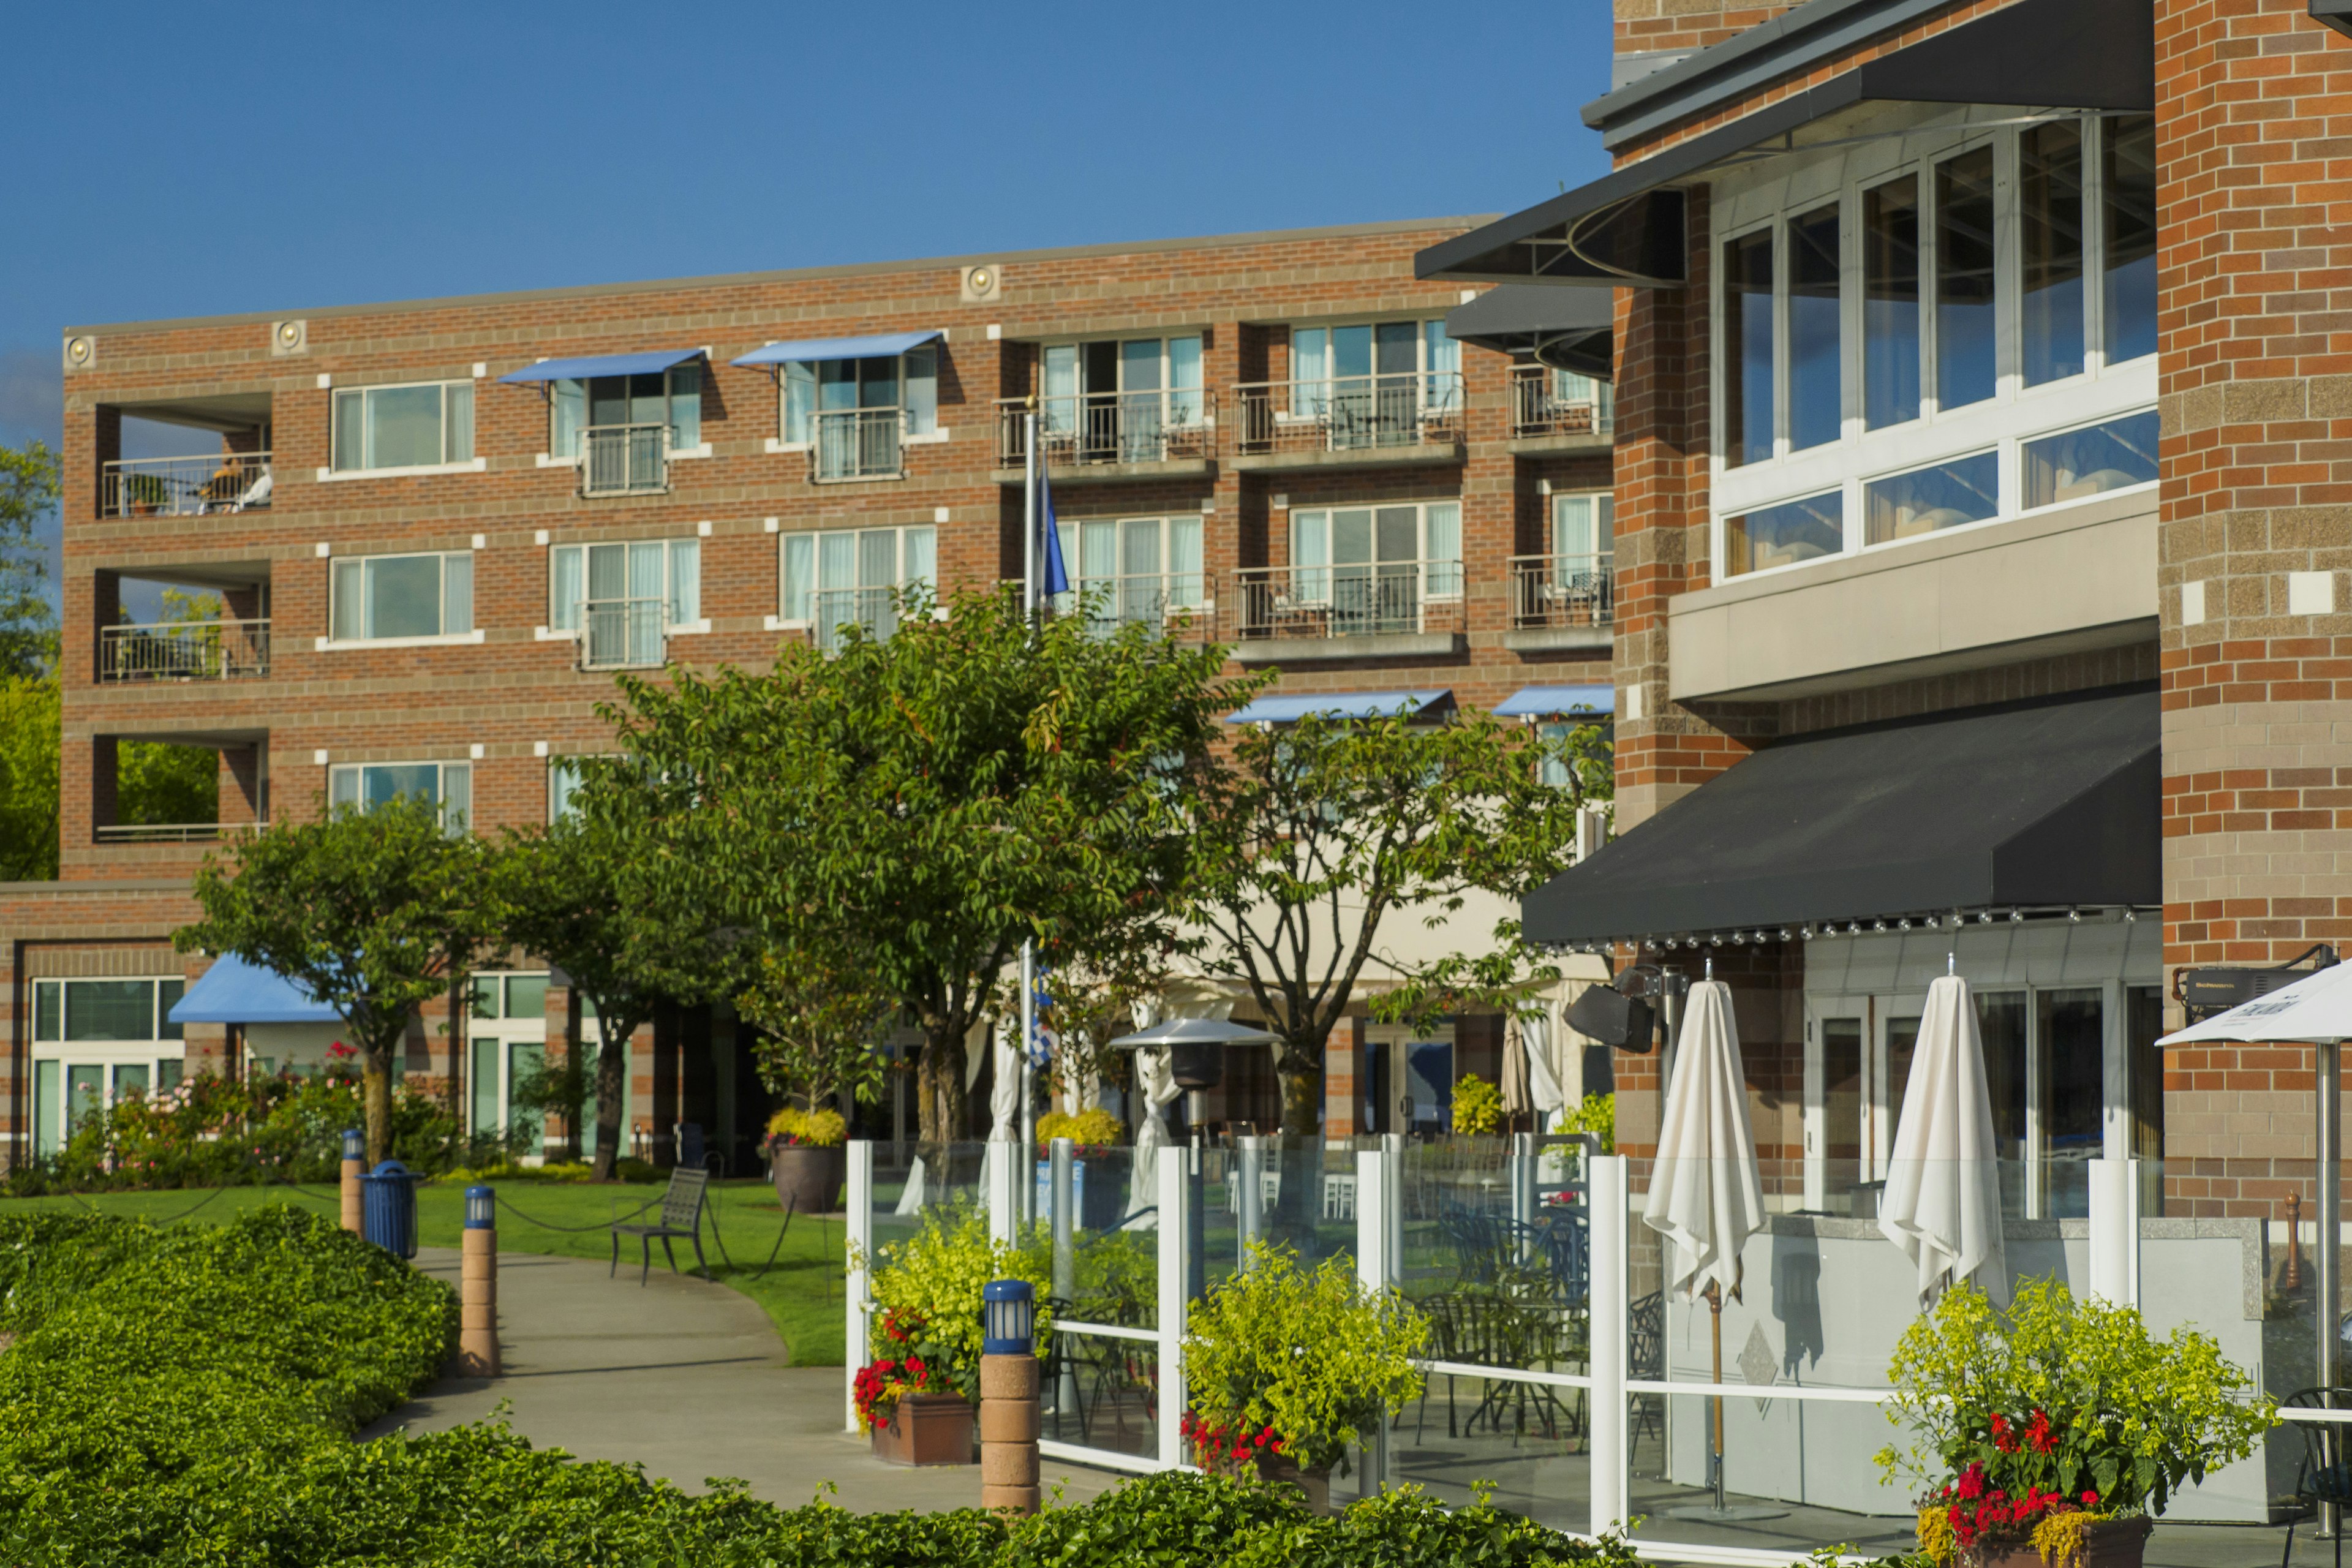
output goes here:
<path id="1" fill-rule="evenodd" d="M 2009 1298 L 1985 1041 L 1959 976 L 1926 987 L 1879 1232 L 1917 1265 L 1922 1307 L 1971 1276 L 1994 1300 Z"/>

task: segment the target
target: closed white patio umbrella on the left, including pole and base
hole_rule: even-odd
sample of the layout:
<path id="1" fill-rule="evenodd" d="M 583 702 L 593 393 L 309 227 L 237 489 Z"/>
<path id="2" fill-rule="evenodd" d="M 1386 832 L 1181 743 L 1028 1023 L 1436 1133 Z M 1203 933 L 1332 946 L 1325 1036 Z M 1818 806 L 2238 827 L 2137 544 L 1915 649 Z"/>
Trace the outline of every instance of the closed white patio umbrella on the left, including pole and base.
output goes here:
<path id="1" fill-rule="evenodd" d="M 1712 966 L 1710 966 L 1712 969 Z M 1665 1086 L 1658 1164 L 1642 1222 L 1675 1244 L 1668 1288 L 1703 1295 L 1715 1328 L 1715 1382 L 1724 1380 L 1724 1295 L 1740 1300 L 1740 1248 L 1764 1229 L 1764 1180 L 1748 1124 L 1748 1072 L 1731 1020 L 1731 987 L 1691 987 Z M 1724 1401 L 1715 1399 L 1715 1507 L 1708 1519 L 1771 1519 L 1780 1509 L 1724 1507 Z"/>

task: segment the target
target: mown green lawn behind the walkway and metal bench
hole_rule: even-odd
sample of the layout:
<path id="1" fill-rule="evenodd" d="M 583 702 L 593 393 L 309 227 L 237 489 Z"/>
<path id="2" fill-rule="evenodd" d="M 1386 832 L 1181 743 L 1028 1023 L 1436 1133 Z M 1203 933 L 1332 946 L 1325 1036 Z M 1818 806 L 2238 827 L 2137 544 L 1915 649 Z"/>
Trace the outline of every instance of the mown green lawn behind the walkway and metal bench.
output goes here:
<path id="1" fill-rule="evenodd" d="M 607 1225 L 647 1199 L 661 1197 L 656 1182 L 501 1182 L 499 1251 L 555 1253 L 560 1258 L 612 1258 Z M 28 1208 L 99 1208 L 148 1220 L 186 1215 L 198 1222 L 221 1222 L 263 1204 L 306 1204 L 336 1213 L 334 1187 L 219 1187 L 181 1192 L 96 1192 L 87 1197 L 0 1199 L 0 1213 Z M 508 1204 L 513 1208 L 508 1208 Z M 463 1187 L 423 1185 L 416 1190 L 416 1225 L 423 1246 L 456 1246 L 463 1220 Z M 534 1225 L 543 1220 L 543 1225 Z M 762 1267 L 776 1248 L 783 1211 L 776 1192 L 760 1180 L 713 1182 L 703 1211 L 703 1253 L 710 1274 L 760 1302 L 776 1324 L 795 1366 L 842 1363 L 842 1220 L 793 1215 L 774 1267 Z M 586 1227 L 586 1229 L 555 1229 Z M 722 1251 L 724 1244 L 724 1251 Z M 680 1246 L 680 1267 L 694 1265 L 694 1248 Z M 635 1267 L 637 1246 L 623 1241 L 621 1267 Z M 654 1246 L 654 1267 L 663 1267 Z"/>

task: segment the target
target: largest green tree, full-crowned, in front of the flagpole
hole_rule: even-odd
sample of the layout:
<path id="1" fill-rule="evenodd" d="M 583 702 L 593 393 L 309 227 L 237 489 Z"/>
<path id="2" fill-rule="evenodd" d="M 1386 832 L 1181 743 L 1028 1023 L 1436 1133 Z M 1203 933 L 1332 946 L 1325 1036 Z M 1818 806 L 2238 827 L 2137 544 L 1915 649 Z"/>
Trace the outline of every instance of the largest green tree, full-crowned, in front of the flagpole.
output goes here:
<path id="1" fill-rule="evenodd" d="M 964 1034 L 1021 940 L 1174 926 L 1176 809 L 1207 766 L 1223 654 L 1141 625 L 1033 628 L 1018 595 L 917 592 L 894 632 L 788 644 L 767 675 L 623 677 L 626 759 L 583 762 L 588 809 L 630 795 L 640 900 L 713 903 L 757 947 L 863 952 L 922 1027 L 922 1135 L 964 1126 Z"/>

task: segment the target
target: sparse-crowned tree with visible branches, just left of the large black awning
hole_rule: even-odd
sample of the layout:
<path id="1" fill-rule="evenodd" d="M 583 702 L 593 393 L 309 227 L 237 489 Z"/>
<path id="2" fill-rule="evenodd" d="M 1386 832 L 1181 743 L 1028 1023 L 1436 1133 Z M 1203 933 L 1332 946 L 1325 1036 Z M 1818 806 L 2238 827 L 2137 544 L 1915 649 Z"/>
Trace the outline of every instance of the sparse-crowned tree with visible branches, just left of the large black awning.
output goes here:
<path id="1" fill-rule="evenodd" d="M 1284 1133 L 1315 1131 L 1324 1046 L 1376 952 L 1421 1006 L 1496 983 L 1458 954 L 1399 964 L 1381 931 L 1416 914 L 1437 924 L 1470 891 L 1517 898 L 1564 870 L 1590 788 L 1573 745 L 1475 710 L 1430 726 L 1310 715 L 1251 726 L 1202 776 L 1192 914 L 1211 940 L 1200 959 L 1240 980 L 1277 1037 Z"/>

